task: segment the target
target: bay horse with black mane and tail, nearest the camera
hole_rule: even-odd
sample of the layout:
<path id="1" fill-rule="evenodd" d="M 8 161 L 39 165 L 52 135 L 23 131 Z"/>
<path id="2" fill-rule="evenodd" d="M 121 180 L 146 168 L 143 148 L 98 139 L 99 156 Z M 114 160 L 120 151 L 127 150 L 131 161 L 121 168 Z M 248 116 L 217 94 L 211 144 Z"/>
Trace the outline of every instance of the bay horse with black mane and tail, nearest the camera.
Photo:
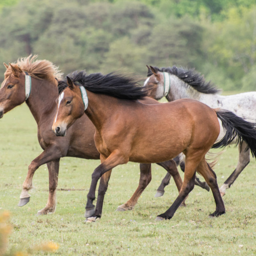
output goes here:
<path id="1" fill-rule="evenodd" d="M 128 161 L 162 162 L 181 152 L 186 156 L 182 187 L 172 206 L 158 215 L 157 220 L 172 218 L 194 188 L 196 170 L 202 174 L 214 196 L 216 210 L 210 216 L 224 214 L 225 206 L 216 175 L 205 160 L 205 154 L 220 133 L 218 118 L 225 124 L 226 134 L 215 146 L 225 146 L 237 136 L 239 140 L 246 140 L 252 154 L 256 154 L 254 124 L 232 112 L 212 109 L 191 99 L 143 104 L 138 100 L 143 99 L 147 92 L 128 76 L 115 73 L 86 76 L 79 72 L 72 78 L 67 76 L 66 80 L 59 81 L 58 88 L 53 132 L 57 136 L 65 136 L 67 129 L 84 113 L 96 128 L 94 141 L 100 152 L 101 164 L 92 173 L 87 195 L 88 222 L 102 215 L 102 212 L 94 211 L 93 201 L 97 182 L 104 173 Z"/>

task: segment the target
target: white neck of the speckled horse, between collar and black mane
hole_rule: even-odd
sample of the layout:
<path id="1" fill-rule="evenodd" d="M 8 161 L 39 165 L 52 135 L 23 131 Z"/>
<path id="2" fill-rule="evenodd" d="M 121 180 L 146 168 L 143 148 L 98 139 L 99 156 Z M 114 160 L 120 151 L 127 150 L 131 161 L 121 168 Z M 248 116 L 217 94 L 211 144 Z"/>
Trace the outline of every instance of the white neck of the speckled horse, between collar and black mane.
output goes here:
<path id="1" fill-rule="evenodd" d="M 199 100 L 204 98 L 206 94 L 198 92 L 192 86 L 182 81 L 175 75 L 170 76 L 170 90 L 166 96 L 168 101 L 178 100 L 182 98 L 190 98 L 194 100 Z"/>

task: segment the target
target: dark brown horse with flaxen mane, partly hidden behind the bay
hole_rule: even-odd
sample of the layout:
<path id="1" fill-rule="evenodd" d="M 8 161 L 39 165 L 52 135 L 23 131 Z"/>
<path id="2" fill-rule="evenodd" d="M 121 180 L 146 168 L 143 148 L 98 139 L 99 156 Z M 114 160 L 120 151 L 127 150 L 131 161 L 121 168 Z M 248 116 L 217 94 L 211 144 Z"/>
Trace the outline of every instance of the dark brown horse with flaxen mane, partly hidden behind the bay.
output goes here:
<path id="1" fill-rule="evenodd" d="M 60 158 L 71 156 L 97 160 L 100 159 L 100 153 L 94 144 L 94 125 L 86 115 L 75 122 L 74 127 L 70 128 L 65 138 L 57 138 L 52 133 L 52 122 L 56 112 L 55 100 L 58 96 L 58 82 L 56 79 L 61 79 L 62 74 L 52 62 L 36 60 L 36 58 L 37 56 L 30 55 L 19 59 L 17 63 L 4 64 L 6 72 L 0 88 L 0 118 L 23 102 L 26 102 L 34 116 L 38 126 L 38 142 L 43 152 L 32 160 L 28 166 L 28 174 L 22 185 L 18 206 L 24 206 L 29 202 L 30 194 L 28 192 L 32 188 L 33 175 L 41 165 L 47 164 L 49 196 L 46 206 L 39 210 L 38 214 L 50 214 L 56 210 Z M 150 98 L 146 101 L 155 103 L 155 100 Z M 180 190 L 182 179 L 175 162 L 172 160 L 159 163 L 159 165 L 170 172 L 178 190 Z M 140 173 L 140 183 L 136 193 L 125 204 L 118 206 L 118 210 L 132 210 L 144 190 L 145 184 L 150 182 L 150 165 L 140 164 Z M 102 181 L 102 183 L 104 182 Z M 104 194 L 99 192 L 99 204 L 102 196 Z"/>

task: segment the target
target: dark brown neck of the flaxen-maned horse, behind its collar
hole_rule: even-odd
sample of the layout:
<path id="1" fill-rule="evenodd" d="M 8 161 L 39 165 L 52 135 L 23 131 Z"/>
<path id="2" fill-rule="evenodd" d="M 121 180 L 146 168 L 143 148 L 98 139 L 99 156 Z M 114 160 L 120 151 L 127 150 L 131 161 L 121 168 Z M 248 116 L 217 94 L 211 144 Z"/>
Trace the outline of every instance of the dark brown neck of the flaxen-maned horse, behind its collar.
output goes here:
<path id="1" fill-rule="evenodd" d="M 26 101 L 37 124 L 56 108 L 58 88 L 47 80 L 31 78 L 31 93 Z"/>

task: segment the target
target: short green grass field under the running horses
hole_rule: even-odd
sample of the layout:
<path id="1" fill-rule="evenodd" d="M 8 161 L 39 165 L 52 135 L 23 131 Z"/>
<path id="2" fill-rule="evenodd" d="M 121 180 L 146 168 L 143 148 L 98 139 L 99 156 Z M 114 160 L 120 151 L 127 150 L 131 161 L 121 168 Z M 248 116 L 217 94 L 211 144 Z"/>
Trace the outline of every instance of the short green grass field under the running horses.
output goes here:
<path id="1" fill-rule="evenodd" d="M 11 213 L 13 232 L 9 250 L 26 250 L 41 242 L 59 244 L 54 253 L 36 255 L 256 255 L 256 164 L 246 167 L 224 196 L 226 214 L 209 218 L 215 203 L 211 192 L 195 187 L 169 221 L 156 222 L 156 215 L 170 207 L 177 196 L 171 179 L 162 198 L 154 198 L 166 172 L 152 166 L 152 181 L 130 212 L 116 212 L 138 185 L 139 165 L 128 163 L 112 172 L 103 215 L 95 223 L 84 222 L 86 195 L 98 160 L 63 158 L 60 162 L 57 209 L 37 216 L 48 198 L 48 170 L 41 166 L 34 175 L 30 202 L 18 207 L 22 183 L 30 162 L 42 152 L 36 123 L 26 104 L 0 120 L 0 208 Z M 228 148 L 214 170 L 218 184 L 234 170 L 238 150 Z M 201 178 L 202 179 L 202 178 Z M 74 190 L 76 189 L 76 190 Z M 80 189 L 80 190 L 79 190 Z"/>

